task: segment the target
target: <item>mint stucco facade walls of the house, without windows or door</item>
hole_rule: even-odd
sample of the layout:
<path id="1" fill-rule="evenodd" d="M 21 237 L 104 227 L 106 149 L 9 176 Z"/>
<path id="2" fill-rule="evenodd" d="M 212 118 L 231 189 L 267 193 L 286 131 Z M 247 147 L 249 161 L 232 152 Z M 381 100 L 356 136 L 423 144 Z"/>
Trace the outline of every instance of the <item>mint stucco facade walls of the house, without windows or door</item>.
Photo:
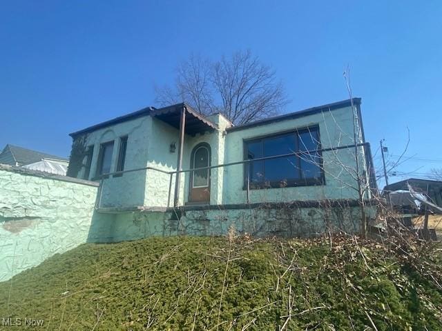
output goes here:
<path id="1" fill-rule="evenodd" d="M 210 117 L 219 130 L 203 132 L 191 136 L 185 134 L 183 170 L 192 168 L 191 152 L 199 143 L 209 143 L 211 165 L 242 161 L 244 159 L 244 139 L 265 134 L 295 130 L 317 125 L 323 148 L 337 148 L 354 144 L 352 108 L 345 107 L 323 111 L 297 119 L 289 119 L 243 130 L 225 131 L 231 124 L 219 114 Z M 363 141 L 361 128 L 357 128 L 356 143 Z M 111 171 L 115 171 L 119 150 L 119 137 L 128 135 L 125 170 L 150 166 L 164 171 L 175 171 L 177 165 L 179 130 L 160 119 L 142 117 L 88 134 L 87 144 L 95 146 L 90 179 L 95 176 L 99 146 L 115 140 Z M 175 152 L 170 151 L 175 143 Z M 309 199 L 355 199 L 358 197 L 358 184 L 355 170 L 354 148 L 323 152 L 325 185 L 299 186 L 294 188 L 267 188 L 251 190 L 249 202 L 294 201 Z M 360 174 L 367 173 L 363 148 L 358 148 Z M 244 165 L 231 165 L 210 170 L 212 205 L 247 203 L 247 191 L 243 189 Z M 184 172 L 180 180 L 179 204 L 189 201 L 189 172 Z M 171 185 L 170 185 L 171 184 Z M 170 192 L 170 194 L 169 194 Z M 104 180 L 102 207 L 127 207 L 145 205 L 166 207 L 173 205 L 175 174 L 172 181 L 168 174 L 155 170 L 143 170 L 111 177 Z M 365 195 L 369 199 L 369 194 Z"/>

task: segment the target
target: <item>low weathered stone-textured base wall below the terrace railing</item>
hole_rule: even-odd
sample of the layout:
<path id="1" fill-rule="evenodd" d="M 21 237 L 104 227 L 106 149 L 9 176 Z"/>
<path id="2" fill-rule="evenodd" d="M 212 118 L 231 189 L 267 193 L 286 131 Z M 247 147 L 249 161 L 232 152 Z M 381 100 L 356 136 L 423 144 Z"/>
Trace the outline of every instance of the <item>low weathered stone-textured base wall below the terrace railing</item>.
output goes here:
<path id="1" fill-rule="evenodd" d="M 107 237 L 118 242 L 152 236 L 222 236 L 231 225 L 238 233 L 254 237 L 316 237 L 340 231 L 357 234 L 361 229 L 361 209 L 354 204 L 329 208 L 262 205 L 242 209 L 186 209 L 115 214 L 104 222 Z M 367 217 L 374 218 L 376 209 L 366 208 L 365 212 Z"/>

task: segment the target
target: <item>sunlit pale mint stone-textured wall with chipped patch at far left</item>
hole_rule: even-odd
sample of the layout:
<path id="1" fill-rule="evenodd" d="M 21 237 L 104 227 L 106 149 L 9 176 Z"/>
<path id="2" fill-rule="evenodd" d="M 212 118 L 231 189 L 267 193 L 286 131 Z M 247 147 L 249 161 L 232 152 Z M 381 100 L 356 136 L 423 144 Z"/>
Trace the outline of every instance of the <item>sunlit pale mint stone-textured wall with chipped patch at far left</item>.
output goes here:
<path id="1" fill-rule="evenodd" d="M 85 243 L 96 194 L 93 182 L 0 165 L 0 281 Z"/>

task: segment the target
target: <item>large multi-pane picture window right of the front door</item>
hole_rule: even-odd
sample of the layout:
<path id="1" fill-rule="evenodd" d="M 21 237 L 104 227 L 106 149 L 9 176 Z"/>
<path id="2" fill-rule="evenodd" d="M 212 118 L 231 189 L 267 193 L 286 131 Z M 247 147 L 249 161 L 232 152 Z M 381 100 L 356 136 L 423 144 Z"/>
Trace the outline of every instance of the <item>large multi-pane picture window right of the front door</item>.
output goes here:
<path id="1" fill-rule="evenodd" d="M 280 188 L 296 185 L 322 185 L 319 128 L 317 126 L 244 142 L 245 159 L 276 157 L 246 163 L 244 186 Z"/>

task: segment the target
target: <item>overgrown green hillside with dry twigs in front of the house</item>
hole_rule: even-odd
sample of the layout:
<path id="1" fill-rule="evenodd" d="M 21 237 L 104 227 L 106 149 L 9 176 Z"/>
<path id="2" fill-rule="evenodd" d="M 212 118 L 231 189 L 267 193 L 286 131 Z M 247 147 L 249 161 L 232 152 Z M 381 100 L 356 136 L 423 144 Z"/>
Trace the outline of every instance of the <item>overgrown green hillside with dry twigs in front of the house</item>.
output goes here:
<path id="1" fill-rule="evenodd" d="M 419 249 L 244 237 L 85 244 L 0 283 L 0 319 L 44 319 L 30 330 L 442 330 L 441 252 L 416 262 Z"/>

